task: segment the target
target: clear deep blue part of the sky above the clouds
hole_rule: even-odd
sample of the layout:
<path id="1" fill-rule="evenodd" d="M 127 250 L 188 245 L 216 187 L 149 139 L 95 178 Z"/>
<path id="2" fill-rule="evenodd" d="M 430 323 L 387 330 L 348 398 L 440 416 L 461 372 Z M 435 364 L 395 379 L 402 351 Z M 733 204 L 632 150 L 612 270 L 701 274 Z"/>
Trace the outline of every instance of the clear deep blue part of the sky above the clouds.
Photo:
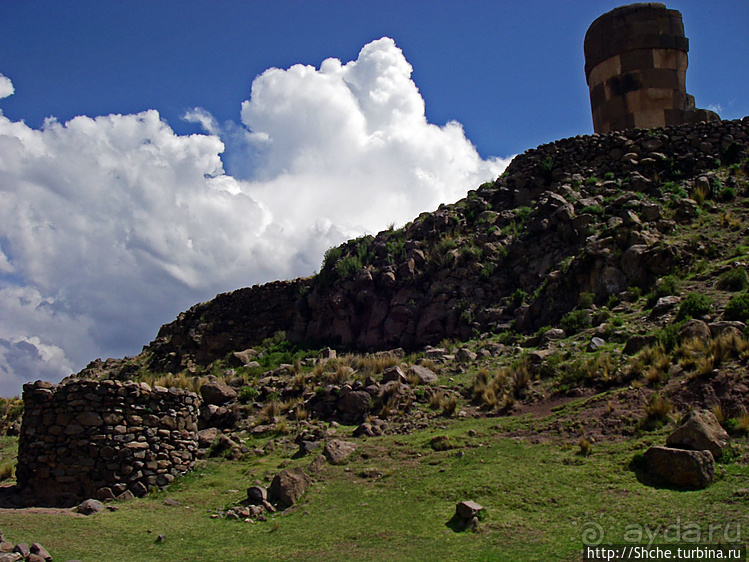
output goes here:
<path id="1" fill-rule="evenodd" d="M 482 156 L 591 132 L 582 41 L 610 0 L 0 3 L 0 72 L 19 93 L 4 113 L 158 109 L 176 132 L 195 106 L 238 120 L 269 67 L 356 58 L 392 37 L 414 67 L 427 118 L 463 124 Z M 688 89 L 726 118 L 749 114 L 749 3 L 675 1 L 691 41 Z"/>

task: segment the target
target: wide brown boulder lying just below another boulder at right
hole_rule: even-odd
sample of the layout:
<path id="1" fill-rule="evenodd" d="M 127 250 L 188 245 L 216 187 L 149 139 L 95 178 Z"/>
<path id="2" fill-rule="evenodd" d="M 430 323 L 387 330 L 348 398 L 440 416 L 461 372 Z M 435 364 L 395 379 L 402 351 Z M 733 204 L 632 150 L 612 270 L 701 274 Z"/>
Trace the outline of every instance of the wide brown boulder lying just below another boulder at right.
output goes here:
<path id="1" fill-rule="evenodd" d="M 689 451 L 655 445 L 645 451 L 648 474 L 679 488 L 706 488 L 715 478 L 715 459 L 710 451 Z"/>

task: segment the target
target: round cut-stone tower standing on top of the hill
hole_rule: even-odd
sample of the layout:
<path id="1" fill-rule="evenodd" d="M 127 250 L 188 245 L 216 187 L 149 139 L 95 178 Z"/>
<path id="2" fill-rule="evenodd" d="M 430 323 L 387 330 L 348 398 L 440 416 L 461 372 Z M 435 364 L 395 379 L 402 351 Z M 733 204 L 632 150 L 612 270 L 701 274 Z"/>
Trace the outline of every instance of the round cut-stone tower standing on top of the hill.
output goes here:
<path id="1" fill-rule="evenodd" d="M 719 119 L 687 94 L 689 40 L 678 10 L 658 2 L 616 8 L 590 25 L 584 50 L 596 133 Z"/>

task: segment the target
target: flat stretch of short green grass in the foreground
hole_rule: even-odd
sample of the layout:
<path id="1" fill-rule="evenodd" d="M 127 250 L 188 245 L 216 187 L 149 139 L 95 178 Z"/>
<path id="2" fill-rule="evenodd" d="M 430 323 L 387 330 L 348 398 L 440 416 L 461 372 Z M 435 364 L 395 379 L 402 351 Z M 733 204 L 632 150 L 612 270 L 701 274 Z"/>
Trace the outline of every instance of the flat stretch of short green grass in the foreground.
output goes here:
<path id="1" fill-rule="evenodd" d="M 679 522 L 705 533 L 710 524 L 749 528 L 747 500 L 732 498 L 746 487 L 746 465 L 725 465 L 725 475 L 703 491 L 652 488 L 628 465 L 665 433 L 596 443 L 585 458 L 576 454 L 576 439 L 530 444 L 499 435 L 505 426 L 536 423 L 446 421 L 443 428 L 361 441 L 362 454 L 345 467 L 326 467 L 297 508 L 265 523 L 210 514 L 241 500 L 256 478 L 277 472 L 290 447 L 238 462 L 211 460 L 167 491 L 118 504 L 113 513 L 0 511 L 0 528 L 11 541 L 42 543 L 55 559 L 84 561 L 579 560 L 591 529 L 622 542 L 645 526 L 652 532 Z M 433 450 L 437 435 L 458 447 Z M 367 477 L 372 473 L 382 476 Z M 166 497 L 182 505 L 165 506 Z M 455 533 L 446 523 L 455 503 L 468 499 L 483 505 L 486 517 L 478 533 Z M 165 542 L 156 542 L 159 534 Z"/>

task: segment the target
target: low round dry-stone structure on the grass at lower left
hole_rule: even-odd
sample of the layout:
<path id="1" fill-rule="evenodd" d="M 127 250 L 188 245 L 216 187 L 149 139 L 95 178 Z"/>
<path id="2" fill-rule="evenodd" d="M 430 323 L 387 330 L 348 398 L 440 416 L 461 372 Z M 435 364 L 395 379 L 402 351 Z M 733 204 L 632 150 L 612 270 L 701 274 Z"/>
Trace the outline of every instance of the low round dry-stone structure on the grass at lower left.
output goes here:
<path id="1" fill-rule="evenodd" d="M 24 385 L 17 479 L 30 503 L 142 496 L 195 464 L 200 399 L 145 383 Z"/>

